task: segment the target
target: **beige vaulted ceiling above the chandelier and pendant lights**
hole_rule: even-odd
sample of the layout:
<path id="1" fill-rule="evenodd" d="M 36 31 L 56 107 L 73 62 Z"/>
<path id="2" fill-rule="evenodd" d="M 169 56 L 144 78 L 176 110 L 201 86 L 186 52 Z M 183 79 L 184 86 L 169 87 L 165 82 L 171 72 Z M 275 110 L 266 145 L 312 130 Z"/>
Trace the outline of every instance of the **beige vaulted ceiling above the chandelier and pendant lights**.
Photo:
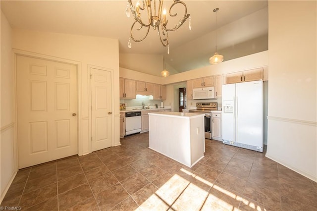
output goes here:
<path id="1" fill-rule="evenodd" d="M 267 50 L 267 0 L 183 1 L 191 15 L 192 30 L 186 21 L 177 31 L 169 32 L 169 54 L 153 29 L 144 41 L 132 42 L 128 48 L 133 18 L 125 14 L 126 0 L 1 0 L 1 10 L 12 28 L 118 39 L 119 53 L 164 56 L 174 72 L 210 65 L 216 30 L 212 10 L 216 7 L 217 50 L 224 60 Z M 163 7 L 169 8 L 171 2 L 165 0 Z"/>

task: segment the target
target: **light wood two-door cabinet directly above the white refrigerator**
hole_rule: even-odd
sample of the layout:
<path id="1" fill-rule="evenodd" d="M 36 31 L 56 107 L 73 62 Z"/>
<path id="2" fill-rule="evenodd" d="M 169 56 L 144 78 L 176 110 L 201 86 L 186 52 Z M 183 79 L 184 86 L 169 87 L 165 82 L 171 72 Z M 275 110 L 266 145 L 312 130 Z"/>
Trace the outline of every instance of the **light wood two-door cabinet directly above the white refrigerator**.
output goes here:
<path id="1" fill-rule="evenodd" d="M 263 80 L 263 68 L 226 74 L 226 84 Z"/>

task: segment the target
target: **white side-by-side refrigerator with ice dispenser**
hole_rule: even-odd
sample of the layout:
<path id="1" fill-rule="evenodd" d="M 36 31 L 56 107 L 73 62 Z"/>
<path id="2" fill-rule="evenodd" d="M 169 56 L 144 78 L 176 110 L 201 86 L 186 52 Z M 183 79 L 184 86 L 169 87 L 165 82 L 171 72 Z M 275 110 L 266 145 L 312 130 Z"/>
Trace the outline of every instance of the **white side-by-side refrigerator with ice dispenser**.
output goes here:
<path id="1" fill-rule="evenodd" d="M 222 85 L 222 140 L 263 152 L 263 81 Z"/>

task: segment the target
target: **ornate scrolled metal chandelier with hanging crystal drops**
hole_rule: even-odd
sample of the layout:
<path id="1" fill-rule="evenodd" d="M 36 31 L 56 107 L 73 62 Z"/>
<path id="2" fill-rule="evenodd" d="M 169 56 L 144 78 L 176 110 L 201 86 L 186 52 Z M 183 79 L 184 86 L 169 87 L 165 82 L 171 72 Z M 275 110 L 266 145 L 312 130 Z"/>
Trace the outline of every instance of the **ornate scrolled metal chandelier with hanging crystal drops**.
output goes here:
<path id="1" fill-rule="evenodd" d="M 173 6 L 177 4 L 182 4 L 184 6 L 185 12 L 182 19 L 178 21 L 178 23 L 175 25 L 174 28 L 166 28 L 168 20 L 166 19 L 166 13 L 167 13 L 166 9 L 164 8 L 162 11 L 163 0 L 159 0 L 158 11 L 156 8 L 157 0 L 140 0 L 140 1 L 137 2 L 136 6 L 133 6 L 132 0 L 128 0 L 127 8 L 125 10 L 127 17 L 130 17 L 130 11 L 131 11 L 133 18 L 135 19 L 134 23 L 131 26 L 131 30 L 130 30 L 131 35 L 129 38 L 128 47 L 129 48 L 132 47 L 131 39 L 135 42 L 143 41 L 148 36 L 150 26 L 152 26 L 154 30 L 158 29 L 160 42 L 162 43 L 164 47 L 167 46 L 167 54 L 169 54 L 168 32 L 177 30 L 186 21 L 187 18 L 189 18 L 189 30 L 192 29 L 191 18 L 190 18 L 190 14 L 187 14 L 186 4 L 181 0 L 173 0 L 173 3 L 171 4 L 168 10 L 169 16 L 171 17 L 177 16 L 177 13 L 171 14 L 171 9 L 173 8 Z M 144 20 L 142 20 L 141 11 L 145 9 L 147 10 L 147 17 L 143 15 L 142 17 L 144 17 Z M 137 31 L 140 31 L 142 27 L 147 27 L 146 34 L 141 39 L 136 39 L 133 36 L 132 31 L 134 27 L 136 26 L 136 23 L 138 23 L 137 25 L 139 26 L 138 28 L 135 28 L 135 30 Z"/>

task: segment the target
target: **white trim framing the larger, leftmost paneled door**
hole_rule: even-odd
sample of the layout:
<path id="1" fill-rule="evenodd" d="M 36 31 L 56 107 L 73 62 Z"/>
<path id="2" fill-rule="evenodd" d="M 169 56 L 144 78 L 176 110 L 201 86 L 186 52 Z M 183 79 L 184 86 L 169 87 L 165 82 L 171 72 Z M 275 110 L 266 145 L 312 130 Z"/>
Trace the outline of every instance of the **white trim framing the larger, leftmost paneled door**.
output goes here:
<path id="1" fill-rule="evenodd" d="M 81 95 L 82 95 L 82 90 L 81 90 L 81 78 L 82 78 L 82 72 L 81 72 L 81 62 L 80 61 L 75 61 L 71 59 L 66 59 L 66 58 L 60 58 L 60 57 L 55 57 L 51 55 L 46 55 L 46 54 L 41 54 L 41 53 L 34 53 L 34 52 L 29 52 L 29 51 L 23 51 L 19 49 L 12 49 L 13 52 L 13 62 L 14 62 L 14 89 L 15 89 L 15 122 L 17 122 L 17 105 L 16 105 L 16 56 L 17 55 L 22 55 L 22 56 L 29 56 L 33 58 L 39 58 L 39 59 L 46 59 L 46 60 L 51 60 L 55 62 L 62 62 L 62 63 L 67 63 L 67 64 L 72 64 L 77 66 L 77 153 L 78 155 L 82 155 L 82 138 L 81 138 L 81 133 L 82 133 L 82 128 L 81 128 Z M 15 138 L 15 146 L 18 146 L 18 137 L 17 137 L 17 129 L 16 129 L 16 138 Z M 16 162 L 18 163 L 18 152 L 16 149 Z M 18 168 L 18 165 L 17 165 Z"/>

